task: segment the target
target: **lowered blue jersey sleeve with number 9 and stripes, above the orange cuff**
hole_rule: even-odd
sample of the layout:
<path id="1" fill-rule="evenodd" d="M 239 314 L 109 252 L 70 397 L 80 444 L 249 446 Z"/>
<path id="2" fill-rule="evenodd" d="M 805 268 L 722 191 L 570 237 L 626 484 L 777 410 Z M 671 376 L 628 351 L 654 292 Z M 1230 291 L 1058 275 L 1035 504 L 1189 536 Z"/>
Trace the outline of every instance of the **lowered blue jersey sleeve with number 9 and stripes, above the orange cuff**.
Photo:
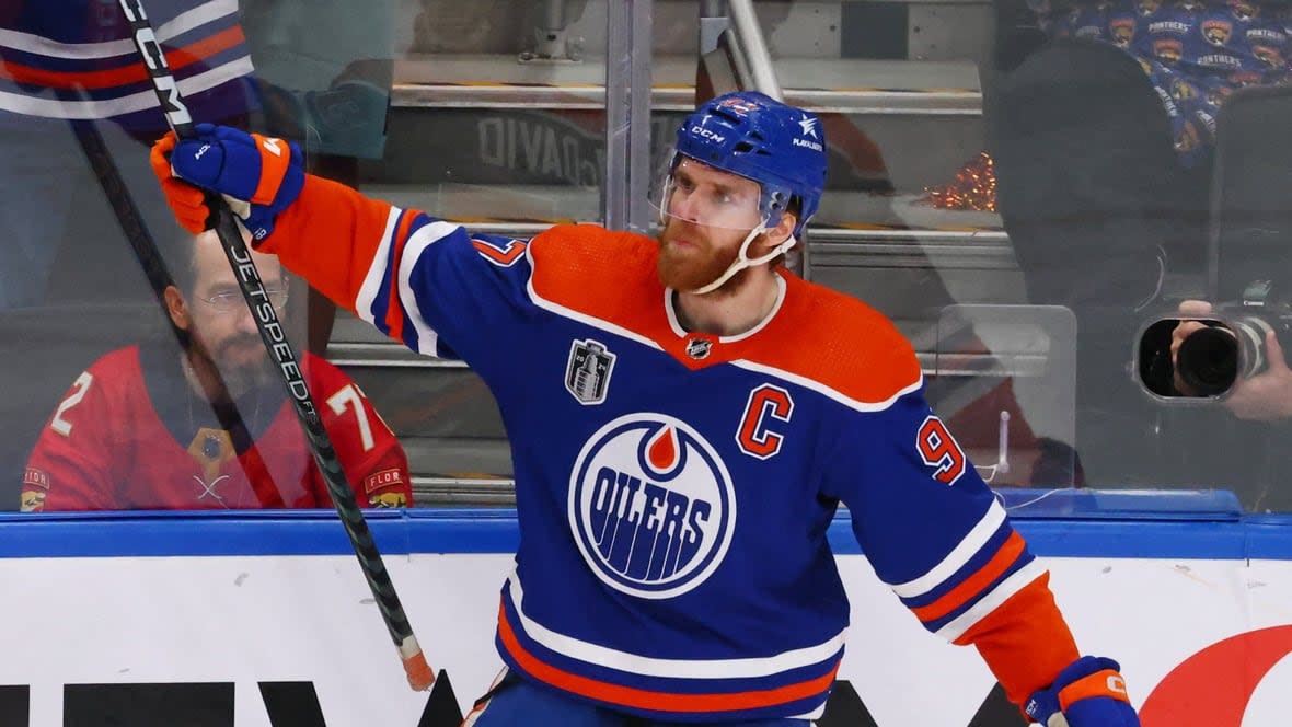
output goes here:
<path id="1" fill-rule="evenodd" d="M 840 427 L 827 495 L 863 553 L 926 629 L 956 640 L 1043 575 L 922 387 Z"/>

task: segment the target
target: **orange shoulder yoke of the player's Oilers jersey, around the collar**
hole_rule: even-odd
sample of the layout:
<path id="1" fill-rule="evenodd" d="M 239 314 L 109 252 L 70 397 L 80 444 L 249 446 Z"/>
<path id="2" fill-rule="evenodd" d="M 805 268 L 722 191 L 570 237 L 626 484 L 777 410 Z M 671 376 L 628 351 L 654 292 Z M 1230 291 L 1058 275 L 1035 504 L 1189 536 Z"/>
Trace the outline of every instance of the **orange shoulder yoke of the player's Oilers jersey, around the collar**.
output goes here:
<path id="1" fill-rule="evenodd" d="M 712 354 L 685 354 L 656 274 L 659 244 L 596 225 L 563 225 L 530 244 L 536 303 L 662 349 L 689 368 L 733 363 L 828 389 L 864 405 L 886 404 L 922 381 L 911 343 L 862 301 L 782 271 L 784 297 L 771 319 L 744 336 L 713 337 Z"/>

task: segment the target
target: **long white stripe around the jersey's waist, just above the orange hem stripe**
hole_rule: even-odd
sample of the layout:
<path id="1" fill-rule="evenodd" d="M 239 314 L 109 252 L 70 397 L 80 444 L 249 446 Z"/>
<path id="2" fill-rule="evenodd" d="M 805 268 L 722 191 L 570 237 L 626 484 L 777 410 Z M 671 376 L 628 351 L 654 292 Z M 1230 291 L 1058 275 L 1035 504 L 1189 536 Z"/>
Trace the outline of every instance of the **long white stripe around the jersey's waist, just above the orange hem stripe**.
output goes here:
<path id="1" fill-rule="evenodd" d="M 643 677 L 676 679 L 756 679 L 758 677 L 769 677 L 826 661 L 837 653 L 839 650 L 844 648 L 844 637 L 846 634 L 846 630 L 844 630 L 829 640 L 817 646 L 753 659 L 656 659 L 618 651 L 553 631 L 525 615 L 525 590 L 521 588 L 521 579 L 516 575 L 516 571 L 508 579 L 508 588 L 512 603 L 516 606 L 516 612 L 521 619 L 517 626 L 530 639 L 537 642 L 544 648 L 571 659 Z"/>

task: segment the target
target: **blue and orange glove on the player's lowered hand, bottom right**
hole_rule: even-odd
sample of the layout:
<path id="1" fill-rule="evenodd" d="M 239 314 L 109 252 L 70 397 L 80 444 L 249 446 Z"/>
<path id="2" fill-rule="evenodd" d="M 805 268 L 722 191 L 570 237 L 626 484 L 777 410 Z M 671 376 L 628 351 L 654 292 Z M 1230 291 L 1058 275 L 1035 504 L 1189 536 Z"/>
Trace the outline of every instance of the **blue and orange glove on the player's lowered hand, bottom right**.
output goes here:
<path id="1" fill-rule="evenodd" d="M 1140 727 L 1119 669 L 1111 659 L 1083 656 L 1034 693 L 1023 712 L 1044 727 Z"/>

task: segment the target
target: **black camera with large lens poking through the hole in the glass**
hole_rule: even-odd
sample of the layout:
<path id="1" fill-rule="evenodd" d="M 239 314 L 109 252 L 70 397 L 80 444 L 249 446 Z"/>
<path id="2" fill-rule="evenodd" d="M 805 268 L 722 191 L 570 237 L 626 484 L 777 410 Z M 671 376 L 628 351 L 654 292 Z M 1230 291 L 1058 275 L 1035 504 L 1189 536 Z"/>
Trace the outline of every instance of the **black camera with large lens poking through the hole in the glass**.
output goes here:
<path id="1" fill-rule="evenodd" d="M 1176 373 L 1196 395 L 1214 396 L 1239 378 L 1269 368 L 1265 337 L 1273 331 L 1279 342 L 1292 331 L 1292 300 L 1270 280 L 1253 280 L 1239 301 L 1216 306 L 1218 323 L 1189 334 L 1176 353 Z"/>

